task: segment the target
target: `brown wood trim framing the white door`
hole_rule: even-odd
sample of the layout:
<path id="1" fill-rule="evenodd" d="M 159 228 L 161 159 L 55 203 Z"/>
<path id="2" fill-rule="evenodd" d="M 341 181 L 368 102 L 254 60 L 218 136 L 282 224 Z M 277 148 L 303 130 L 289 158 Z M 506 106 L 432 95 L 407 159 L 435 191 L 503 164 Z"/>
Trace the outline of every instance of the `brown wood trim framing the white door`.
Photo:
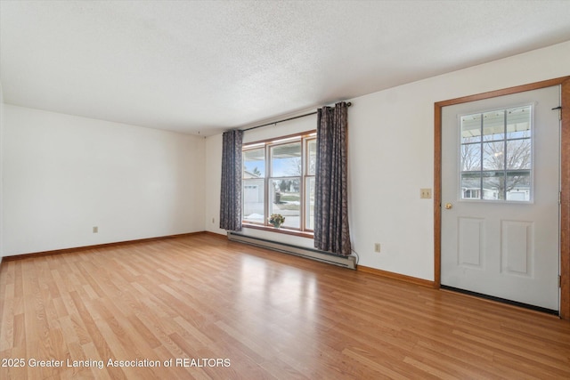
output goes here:
<path id="1" fill-rule="evenodd" d="M 513 93 L 537 90 L 539 88 L 561 86 L 561 136 L 560 136 L 560 318 L 570 319 L 570 76 L 558 77 L 517 85 L 488 93 L 478 93 L 438 101 L 434 104 L 434 287 L 441 286 L 442 250 L 442 109 L 460 103 L 480 101 Z"/>

